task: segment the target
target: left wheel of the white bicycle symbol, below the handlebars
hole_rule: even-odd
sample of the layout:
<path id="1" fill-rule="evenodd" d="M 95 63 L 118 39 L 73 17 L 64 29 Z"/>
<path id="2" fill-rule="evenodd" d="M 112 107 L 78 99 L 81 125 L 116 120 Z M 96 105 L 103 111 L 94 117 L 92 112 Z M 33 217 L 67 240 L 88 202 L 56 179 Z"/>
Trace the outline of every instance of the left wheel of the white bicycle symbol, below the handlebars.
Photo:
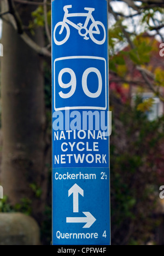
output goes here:
<path id="1" fill-rule="evenodd" d="M 57 34 L 57 39 L 56 39 L 56 30 L 57 30 L 57 28 L 62 27 L 62 25 L 63 25 L 62 21 L 58 22 L 56 24 L 55 28 L 54 28 L 54 42 L 55 42 L 56 45 L 65 44 L 67 42 L 67 40 L 69 39 L 69 36 L 70 36 L 70 28 L 67 24 L 65 24 L 65 28 L 66 28 L 66 32 L 67 32 L 66 37 L 64 39 L 62 39 L 61 41 L 58 39 L 58 38 L 60 38 L 60 36 L 61 36 L 61 38 L 63 38 L 63 34 L 65 33 L 65 28 L 64 28 L 64 30 L 61 34 L 60 34 L 60 30 L 59 30 L 59 32 Z"/>

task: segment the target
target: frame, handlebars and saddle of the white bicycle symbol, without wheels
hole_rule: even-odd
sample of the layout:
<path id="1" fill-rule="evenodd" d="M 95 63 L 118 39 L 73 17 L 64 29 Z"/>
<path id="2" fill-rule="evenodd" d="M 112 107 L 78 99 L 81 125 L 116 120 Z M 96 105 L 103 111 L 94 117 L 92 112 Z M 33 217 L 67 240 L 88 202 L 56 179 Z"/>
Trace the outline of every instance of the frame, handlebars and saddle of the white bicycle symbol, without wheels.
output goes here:
<path id="1" fill-rule="evenodd" d="M 72 7 L 69 7 L 69 8 L 72 8 Z M 95 23 L 95 19 L 92 16 L 92 12 L 93 12 L 93 9 L 91 8 L 91 10 L 89 10 L 88 13 L 71 13 L 71 14 L 69 14 L 68 13 L 68 8 L 66 8 L 65 9 L 65 16 L 63 18 L 63 25 L 61 27 L 60 34 L 62 34 L 62 32 L 63 32 L 63 30 L 65 28 L 65 24 L 71 25 L 72 27 L 76 28 L 78 31 L 81 30 L 81 27 L 74 24 L 71 20 L 68 20 L 68 18 L 73 18 L 73 17 L 86 17 L 86 21 L 85 21 L 85 24 L 84 24 L 83 28 L 86 31 L 88 31 L 87 30 L 87 25 L 89 24 L 89 21 L 91 20 L 93 24 Z M 95 25 L 95 27 L 96 27 L 96 31 L 92 31 L 92 33 L 99 34 L 100 32 L 99 32 L 98 26 Z"/>

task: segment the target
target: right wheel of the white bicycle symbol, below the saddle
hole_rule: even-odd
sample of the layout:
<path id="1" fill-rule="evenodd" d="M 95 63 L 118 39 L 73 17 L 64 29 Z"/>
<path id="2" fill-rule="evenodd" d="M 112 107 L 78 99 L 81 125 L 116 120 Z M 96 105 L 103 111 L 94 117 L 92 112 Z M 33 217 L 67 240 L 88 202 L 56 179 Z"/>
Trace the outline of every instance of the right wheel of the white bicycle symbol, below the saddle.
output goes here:
<path id="1" fill-rule="evenodd" d="M 96 27 L 98 27 L 98 26 L 101 26 L 103 28 L 104 35 L 103 35 L 102 40 L 101 39 L 98 40 L 94 37 L 94 36 L 97 35 L 97 28 Z M 93 30 L 93 28 L 95 28 L 95 30 Z M 101 31 L 100 31 L 100 33 L 101 33 Z M 89 34 L 90 34 L 90 38 L 92 39 L 92 41 L 96 44 L 101 45 L 101 44 L 104 44 L 106 42 L 106 28 L 104 27 L 104 25 L 100 21 L 96 21 L 96 22 L 91 24 L 90 29 L 89 29 Z"/>

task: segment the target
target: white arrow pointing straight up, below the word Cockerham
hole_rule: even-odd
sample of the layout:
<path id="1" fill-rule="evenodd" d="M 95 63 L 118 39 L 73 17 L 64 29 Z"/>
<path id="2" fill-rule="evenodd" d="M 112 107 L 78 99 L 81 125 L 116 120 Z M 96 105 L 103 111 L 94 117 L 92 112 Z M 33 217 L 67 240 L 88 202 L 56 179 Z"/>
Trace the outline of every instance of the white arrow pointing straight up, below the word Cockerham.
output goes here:
<path id="1" fill-rule="evenodd" d="M 84 190 L 77 184 L 74 184 L 68 191 L 68 197 L 73 194 L 73 212 L 79 212 L 79 194 L 84 196 Z"/>

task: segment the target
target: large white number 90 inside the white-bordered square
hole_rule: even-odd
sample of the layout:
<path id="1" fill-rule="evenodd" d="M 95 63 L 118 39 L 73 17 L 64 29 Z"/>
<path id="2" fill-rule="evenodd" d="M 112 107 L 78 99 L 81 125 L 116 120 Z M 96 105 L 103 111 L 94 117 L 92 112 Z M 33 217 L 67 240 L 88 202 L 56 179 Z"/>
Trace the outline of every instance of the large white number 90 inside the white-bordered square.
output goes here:
<path id="1" fill-rule="evenodd" d="M 63 74 L 65 74 L 65 73 L 69 73 L 71 75 L 71 80 L 67 84 L 63 83 L 63 80 L 62 80 Z M 98 90 L 95 93 L 90 92 L 88 89 L 88 86 L 87 86 L 87 78 L 90 73 L 96 73 L 96 75 L 98 77 Z M 71 68 L 63 68 L 58 75 L 58 84 L 63 89 L 68 89 L 69 87 L 71 88 L 71 90 L 67 94 L 64 94 L 62 91 L 60 91 L 59 95 L 61 98 L 72 97 L 77 88 L 77 77 L 76 77 L 74 71 Z M 82 77 L 82 88 L 83 88 L 85 95 L 90 98 L 98 98 L 101 95 L 102 75 L 97 68 L 91 67 L 91 68 L 87 68 L 85 70 L 85 72 L 83 73 L 83 77 Z"/>

